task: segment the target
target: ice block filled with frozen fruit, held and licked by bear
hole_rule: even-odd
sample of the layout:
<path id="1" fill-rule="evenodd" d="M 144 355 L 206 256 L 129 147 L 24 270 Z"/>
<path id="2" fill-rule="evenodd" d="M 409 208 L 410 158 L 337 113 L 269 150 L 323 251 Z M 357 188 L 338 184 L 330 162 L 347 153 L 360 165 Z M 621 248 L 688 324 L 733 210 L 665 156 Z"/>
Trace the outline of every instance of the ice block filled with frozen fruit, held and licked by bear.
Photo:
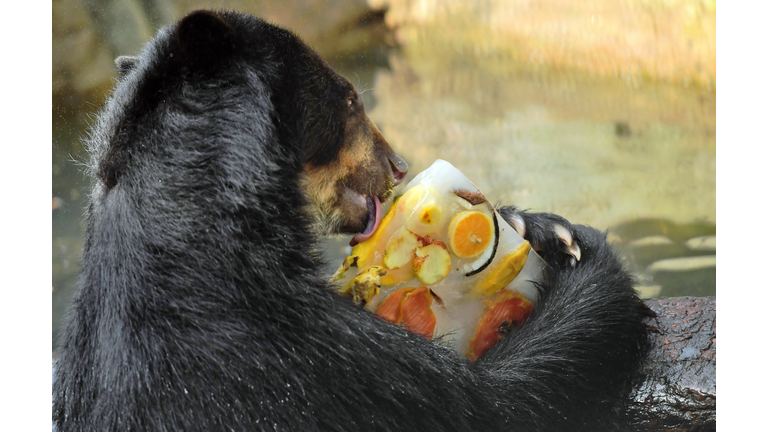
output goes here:
<path id="1" fill-rule="evenodd" d="M 334 281 L 382 319 L 475 359 L 525 322 L 544 266 L 472 182 L 437 160 L 354 245 Z"/>

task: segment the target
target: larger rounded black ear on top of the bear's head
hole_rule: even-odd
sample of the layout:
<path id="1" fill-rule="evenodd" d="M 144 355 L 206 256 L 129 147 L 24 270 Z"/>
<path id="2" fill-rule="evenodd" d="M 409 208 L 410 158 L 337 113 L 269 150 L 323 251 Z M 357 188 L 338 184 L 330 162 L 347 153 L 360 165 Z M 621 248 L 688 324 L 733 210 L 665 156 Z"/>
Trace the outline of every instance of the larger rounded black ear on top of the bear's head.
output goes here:
<path id="1" fill-rule="evenodd" d="M 210 61 L 232 46 L 232 26 L 216 12 L 199 10 L 179 22 L 176 36 L 188 58 Z"/>

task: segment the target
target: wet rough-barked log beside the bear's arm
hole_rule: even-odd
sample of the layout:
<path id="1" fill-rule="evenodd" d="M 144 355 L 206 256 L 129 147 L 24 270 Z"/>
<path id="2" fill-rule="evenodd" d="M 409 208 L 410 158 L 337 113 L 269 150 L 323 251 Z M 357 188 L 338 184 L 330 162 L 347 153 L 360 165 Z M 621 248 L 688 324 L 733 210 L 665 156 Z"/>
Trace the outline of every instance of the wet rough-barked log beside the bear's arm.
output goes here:
<path id="1" fill-rule="evenodd" d="M 651 350 L 627 409 L 632 431 L 716 430 L 716 297 L 646 301 Z"/>

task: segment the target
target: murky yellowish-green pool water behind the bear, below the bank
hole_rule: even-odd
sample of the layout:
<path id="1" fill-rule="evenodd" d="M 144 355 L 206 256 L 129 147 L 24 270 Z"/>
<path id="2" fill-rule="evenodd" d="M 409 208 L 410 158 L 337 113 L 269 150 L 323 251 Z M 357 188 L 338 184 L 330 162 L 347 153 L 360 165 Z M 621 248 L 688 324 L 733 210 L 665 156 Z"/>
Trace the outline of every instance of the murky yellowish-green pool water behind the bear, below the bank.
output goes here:
<path id="1" fill-rule="evenodd" d="M 548 68 L 492 46 L 419 40 L 330 61 L 365 90 L 370 117 L 409 163 L 403 184 L 446 159 L 493 202 L 608 230 L 643 296 L 715 294 L 711 83 Z M 54 345 L 82 253 L 88 189 L 72 159 L 83 157 L 79 138 L 108 85 L 54 94 Z M 323 245 L 331 267 L 348 241 Z"/>

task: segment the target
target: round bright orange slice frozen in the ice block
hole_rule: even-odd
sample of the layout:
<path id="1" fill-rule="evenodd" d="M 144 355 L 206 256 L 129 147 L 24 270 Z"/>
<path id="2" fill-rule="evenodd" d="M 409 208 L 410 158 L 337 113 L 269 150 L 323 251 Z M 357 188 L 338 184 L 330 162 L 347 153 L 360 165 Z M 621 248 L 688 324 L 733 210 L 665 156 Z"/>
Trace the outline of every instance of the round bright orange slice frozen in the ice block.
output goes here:
<path id="1" fill-rule="evenodd" d="M 448 246 L 459 258 L 480 255 L 493 242 L 493 221 L 479 211 L 457 214 L 448 226 Z"/>

